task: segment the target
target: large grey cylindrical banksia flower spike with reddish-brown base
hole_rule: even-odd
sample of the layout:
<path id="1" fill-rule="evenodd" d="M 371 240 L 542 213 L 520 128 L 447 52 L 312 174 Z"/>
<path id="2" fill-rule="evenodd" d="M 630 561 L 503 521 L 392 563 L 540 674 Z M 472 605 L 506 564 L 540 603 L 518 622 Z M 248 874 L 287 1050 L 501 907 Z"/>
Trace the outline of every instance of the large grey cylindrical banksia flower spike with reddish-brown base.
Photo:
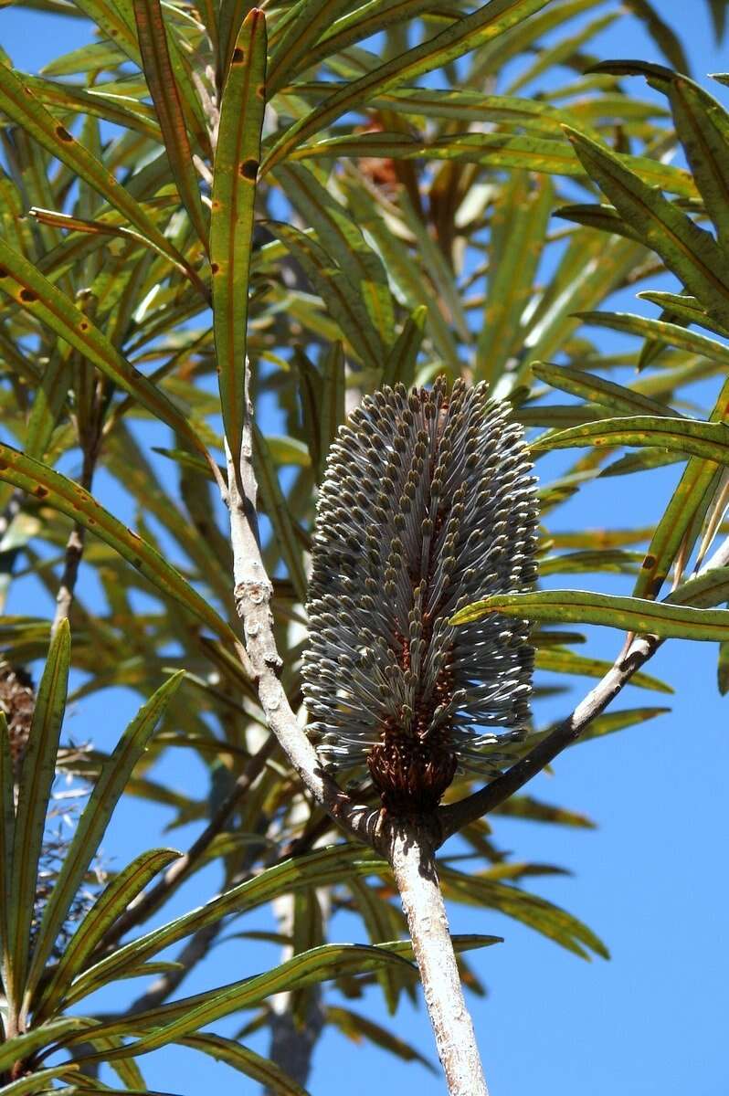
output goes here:
<path id="1" fill-rule="evenodd" d="M 536 576 L 535 481 L 509 410 L 485 385 L 398 385 L 366 397 L 330 449 L 304 659 L 310 731 L 324 763 L 366 765 L 396 814 L 433 810 L 458 766 L 497 772 L 525 731 L 527 623 L 448 624 Z"/>

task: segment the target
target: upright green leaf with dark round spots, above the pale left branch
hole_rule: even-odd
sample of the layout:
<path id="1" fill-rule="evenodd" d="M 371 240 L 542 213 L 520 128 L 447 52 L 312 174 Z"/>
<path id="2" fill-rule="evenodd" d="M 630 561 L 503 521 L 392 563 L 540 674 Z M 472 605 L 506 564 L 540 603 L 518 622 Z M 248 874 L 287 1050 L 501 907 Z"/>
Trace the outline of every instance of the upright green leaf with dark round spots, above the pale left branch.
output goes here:
<path id="1" fill-rule="evenodd" d="M 210 220 L 218 384 L 226 438 L 236 461 L 243 436 L 248 292 L 265 107 L 265 18 L 253 9 L 236 39 L 223 93 Z"/>

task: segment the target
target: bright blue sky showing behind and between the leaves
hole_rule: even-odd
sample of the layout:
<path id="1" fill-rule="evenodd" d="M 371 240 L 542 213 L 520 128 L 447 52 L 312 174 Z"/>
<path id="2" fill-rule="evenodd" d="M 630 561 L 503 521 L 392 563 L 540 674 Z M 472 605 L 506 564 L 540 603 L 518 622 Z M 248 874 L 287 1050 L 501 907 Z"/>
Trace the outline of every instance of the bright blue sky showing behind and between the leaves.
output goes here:
<path id="1" fill-rule="evenodd" d="M 698 0 L 664 0 L 661 14 L 680 31 L 695 75 L 729 68 L 727 48 L 718 53 Z M 690 18 L 686 15 L 690 13 Z M 82 24 L 22 9 L 4 9 L 0 42 L 19 68 L 36 69 L 50 56 L 81 43 Z M 660 60 L 635 22 L 620 22 L 599 39 L 604 57 Z M 710 83 L 710 82 L 709 82 Z M 639 82 L 641 94 L 645 88 Z M 713 92 L 720 93 L 717 85 Z M 726 101 L 726 100 L 725 100 Z M 639 302 L 637 302 L 639 305 Z M 639 310 L 628 302 L 623 307 Z M 590 486 L 559 513 L 565 528 L 657 520 L 675 483 L 675 468 L 642 476 L 634 484 L 606 480 Z M 619 495 L 618 495 L 619 490 Z M 590 580 L 585 580 L 585 585 Z M 10 612 L 21 610 L 18 603 Z M 24 604 L 23 612 L 47 605 Z M 613 657 L 617 632 L 594 630 L 591 652 Z M 568 867 L 572 878 L 538 880 L 534 890 L 563 905 L 607 944 L 610 962 L 585 963 L 514 922 L 482 911 L 452 910 L 454 932 L 496 933 L 505 943 L 474 958 L 489 987 L 486 1000 L 470 998 L 492 1096 L 726 1096 L 729 1065 L 724 1046 L 729 1014 L 727 938 L 726 774 L 729 772 L 727 704 L 716 689 L 714 644 L 667 643 L 650 670 L 670 682 L 669 715 L 619 735 L 590 742 L 561 756 L 551 776 L 539 776 L 532 790 L 542 798 L 590 814 L 595 831 L 558 830 L 510 820 L 498 821 L 502 846 L 520 859 Z M 583 688 L 588 683 L 583 683 Z M 638 694 L 618 707 L 653 703 Z M 658 703 L 662 698 L 657 697 Z M 565 700 L 554 701 L 554 715 Z M 110 707 L 114 710 L 111 711 Z M 133 712 L 132 697 L 114 694 L 77 708 L 69 723 L 75 738 L 93 735 L 105 745 Z M 181 787 L 197 774 L 172 773 Z M 169 821 L 161 810 L 141 811 L 127 803 L 118 812 L 105 846 L 125 863 L 147 847 L 150 826 Z M 180 847 L 190 840 L 175 832 Z M 182 911 L 198 904 L 215 887 L 208 874 L 178 895 Z M 263 918 L 248 927 L 263 927 Z M 351 923 L 334 925 L 346 939 Z M 217 949 L 185 992 L 254 973 L 276 959 L 266 946 L 231 941 Z M 432 1053 L 424 1009 L 405 1008 L 386 1018 L 376 993 L 354 1007 Z M 220 1025 L 232 1031 L 235 1024 Z M 264 1050 L 264 1041 L 253 1046 Z M 187 1051 L 152 1055 L 141 1063 L 150 1087 L 197 1096 L 213 1085 L 226 1096 L 253 1093 L 252 1082 Z M 438 1075 L 405 1066 L 383 1052 L 355 1047 L 327 1034 L 309 1084 L 316 1096 L 384 1093 L 436 1096 Z"/>

